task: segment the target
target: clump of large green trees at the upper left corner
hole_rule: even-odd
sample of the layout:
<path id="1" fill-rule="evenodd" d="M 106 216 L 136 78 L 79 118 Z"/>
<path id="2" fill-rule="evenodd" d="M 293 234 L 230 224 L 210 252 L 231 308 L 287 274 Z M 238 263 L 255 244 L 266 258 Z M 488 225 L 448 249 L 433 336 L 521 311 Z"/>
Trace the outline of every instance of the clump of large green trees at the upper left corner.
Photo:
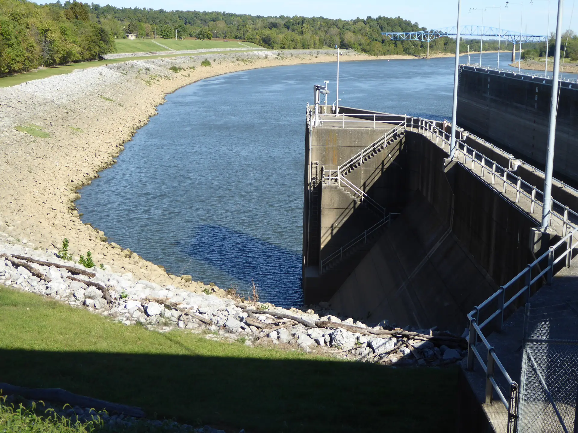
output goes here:
<path id="1" fill-rule="evenodd" d="M 0 73 L 96 59 L 112 53 L 114 36 L 82 3 L 37 5 L 0 0 Z"/>

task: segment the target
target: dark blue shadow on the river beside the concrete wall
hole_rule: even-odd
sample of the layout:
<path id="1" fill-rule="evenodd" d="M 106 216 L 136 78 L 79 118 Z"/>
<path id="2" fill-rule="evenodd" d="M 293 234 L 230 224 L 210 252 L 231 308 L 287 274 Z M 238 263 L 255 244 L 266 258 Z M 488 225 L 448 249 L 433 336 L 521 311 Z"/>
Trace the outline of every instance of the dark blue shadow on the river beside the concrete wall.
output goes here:
<path id="1" fill-rule="evenodd" d="M 217 225 L 199 226 L 194 237 L 178 247 L 187 256 L 234 276 L 245 288 L 254 280 L 262 300 L 274 293 L 281 305 L 300 305 L 301 254 Z"/>

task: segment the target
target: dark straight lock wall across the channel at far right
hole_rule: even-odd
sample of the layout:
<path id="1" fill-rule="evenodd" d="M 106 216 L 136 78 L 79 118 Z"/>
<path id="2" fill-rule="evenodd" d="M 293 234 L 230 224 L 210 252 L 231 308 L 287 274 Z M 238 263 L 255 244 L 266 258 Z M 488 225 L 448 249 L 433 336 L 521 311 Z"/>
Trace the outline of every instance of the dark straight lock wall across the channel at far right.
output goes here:
<path id="1" fill-rule="evenodd" d="M 460 67 L 457 124 L 528 162 L 546 161 L 551 79 Z M 578 182 L 578 84 L 561 82 L 554 171 Z"/>

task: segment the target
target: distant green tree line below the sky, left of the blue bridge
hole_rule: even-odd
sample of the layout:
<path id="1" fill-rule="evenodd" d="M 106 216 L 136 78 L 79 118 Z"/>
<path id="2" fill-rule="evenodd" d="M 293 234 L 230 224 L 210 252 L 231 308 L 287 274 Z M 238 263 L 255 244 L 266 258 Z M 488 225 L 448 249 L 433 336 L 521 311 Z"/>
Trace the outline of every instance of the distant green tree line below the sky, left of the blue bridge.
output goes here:
<path id="1" fill-rule="evenodd" d="M 65 3 L 66 5 L 66 3 Z M 124 32 L 150 38 L 196 37 L 244 39 L 267 48 L 350 48 L 373 55 L 424 54 L 426 44 L 415 41 L 391 41 L 381 32 L 412 32 L 424 29 L 400 17 L 367 17 L 355 20 L 330 20 L 323 17 L 263 17 L 225 12 L 165 11 L 162 9 L 115 8 L 92 4 L 99 23 L 119 38 Z M 436 39 L 432 51 L 455 49 L 451 38 Z"/>

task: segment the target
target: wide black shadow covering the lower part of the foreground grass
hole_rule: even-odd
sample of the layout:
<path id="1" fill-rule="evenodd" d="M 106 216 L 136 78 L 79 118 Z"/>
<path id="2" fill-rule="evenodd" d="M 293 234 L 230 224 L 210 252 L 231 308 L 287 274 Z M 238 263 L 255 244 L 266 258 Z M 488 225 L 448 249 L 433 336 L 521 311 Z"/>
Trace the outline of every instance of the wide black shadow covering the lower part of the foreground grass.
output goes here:
<path id="1" fill-rule="evenodd" d="M 0 382 L 230 431 L 453 431 L 457 376 L 327 360 L 0 350 Z"/>

